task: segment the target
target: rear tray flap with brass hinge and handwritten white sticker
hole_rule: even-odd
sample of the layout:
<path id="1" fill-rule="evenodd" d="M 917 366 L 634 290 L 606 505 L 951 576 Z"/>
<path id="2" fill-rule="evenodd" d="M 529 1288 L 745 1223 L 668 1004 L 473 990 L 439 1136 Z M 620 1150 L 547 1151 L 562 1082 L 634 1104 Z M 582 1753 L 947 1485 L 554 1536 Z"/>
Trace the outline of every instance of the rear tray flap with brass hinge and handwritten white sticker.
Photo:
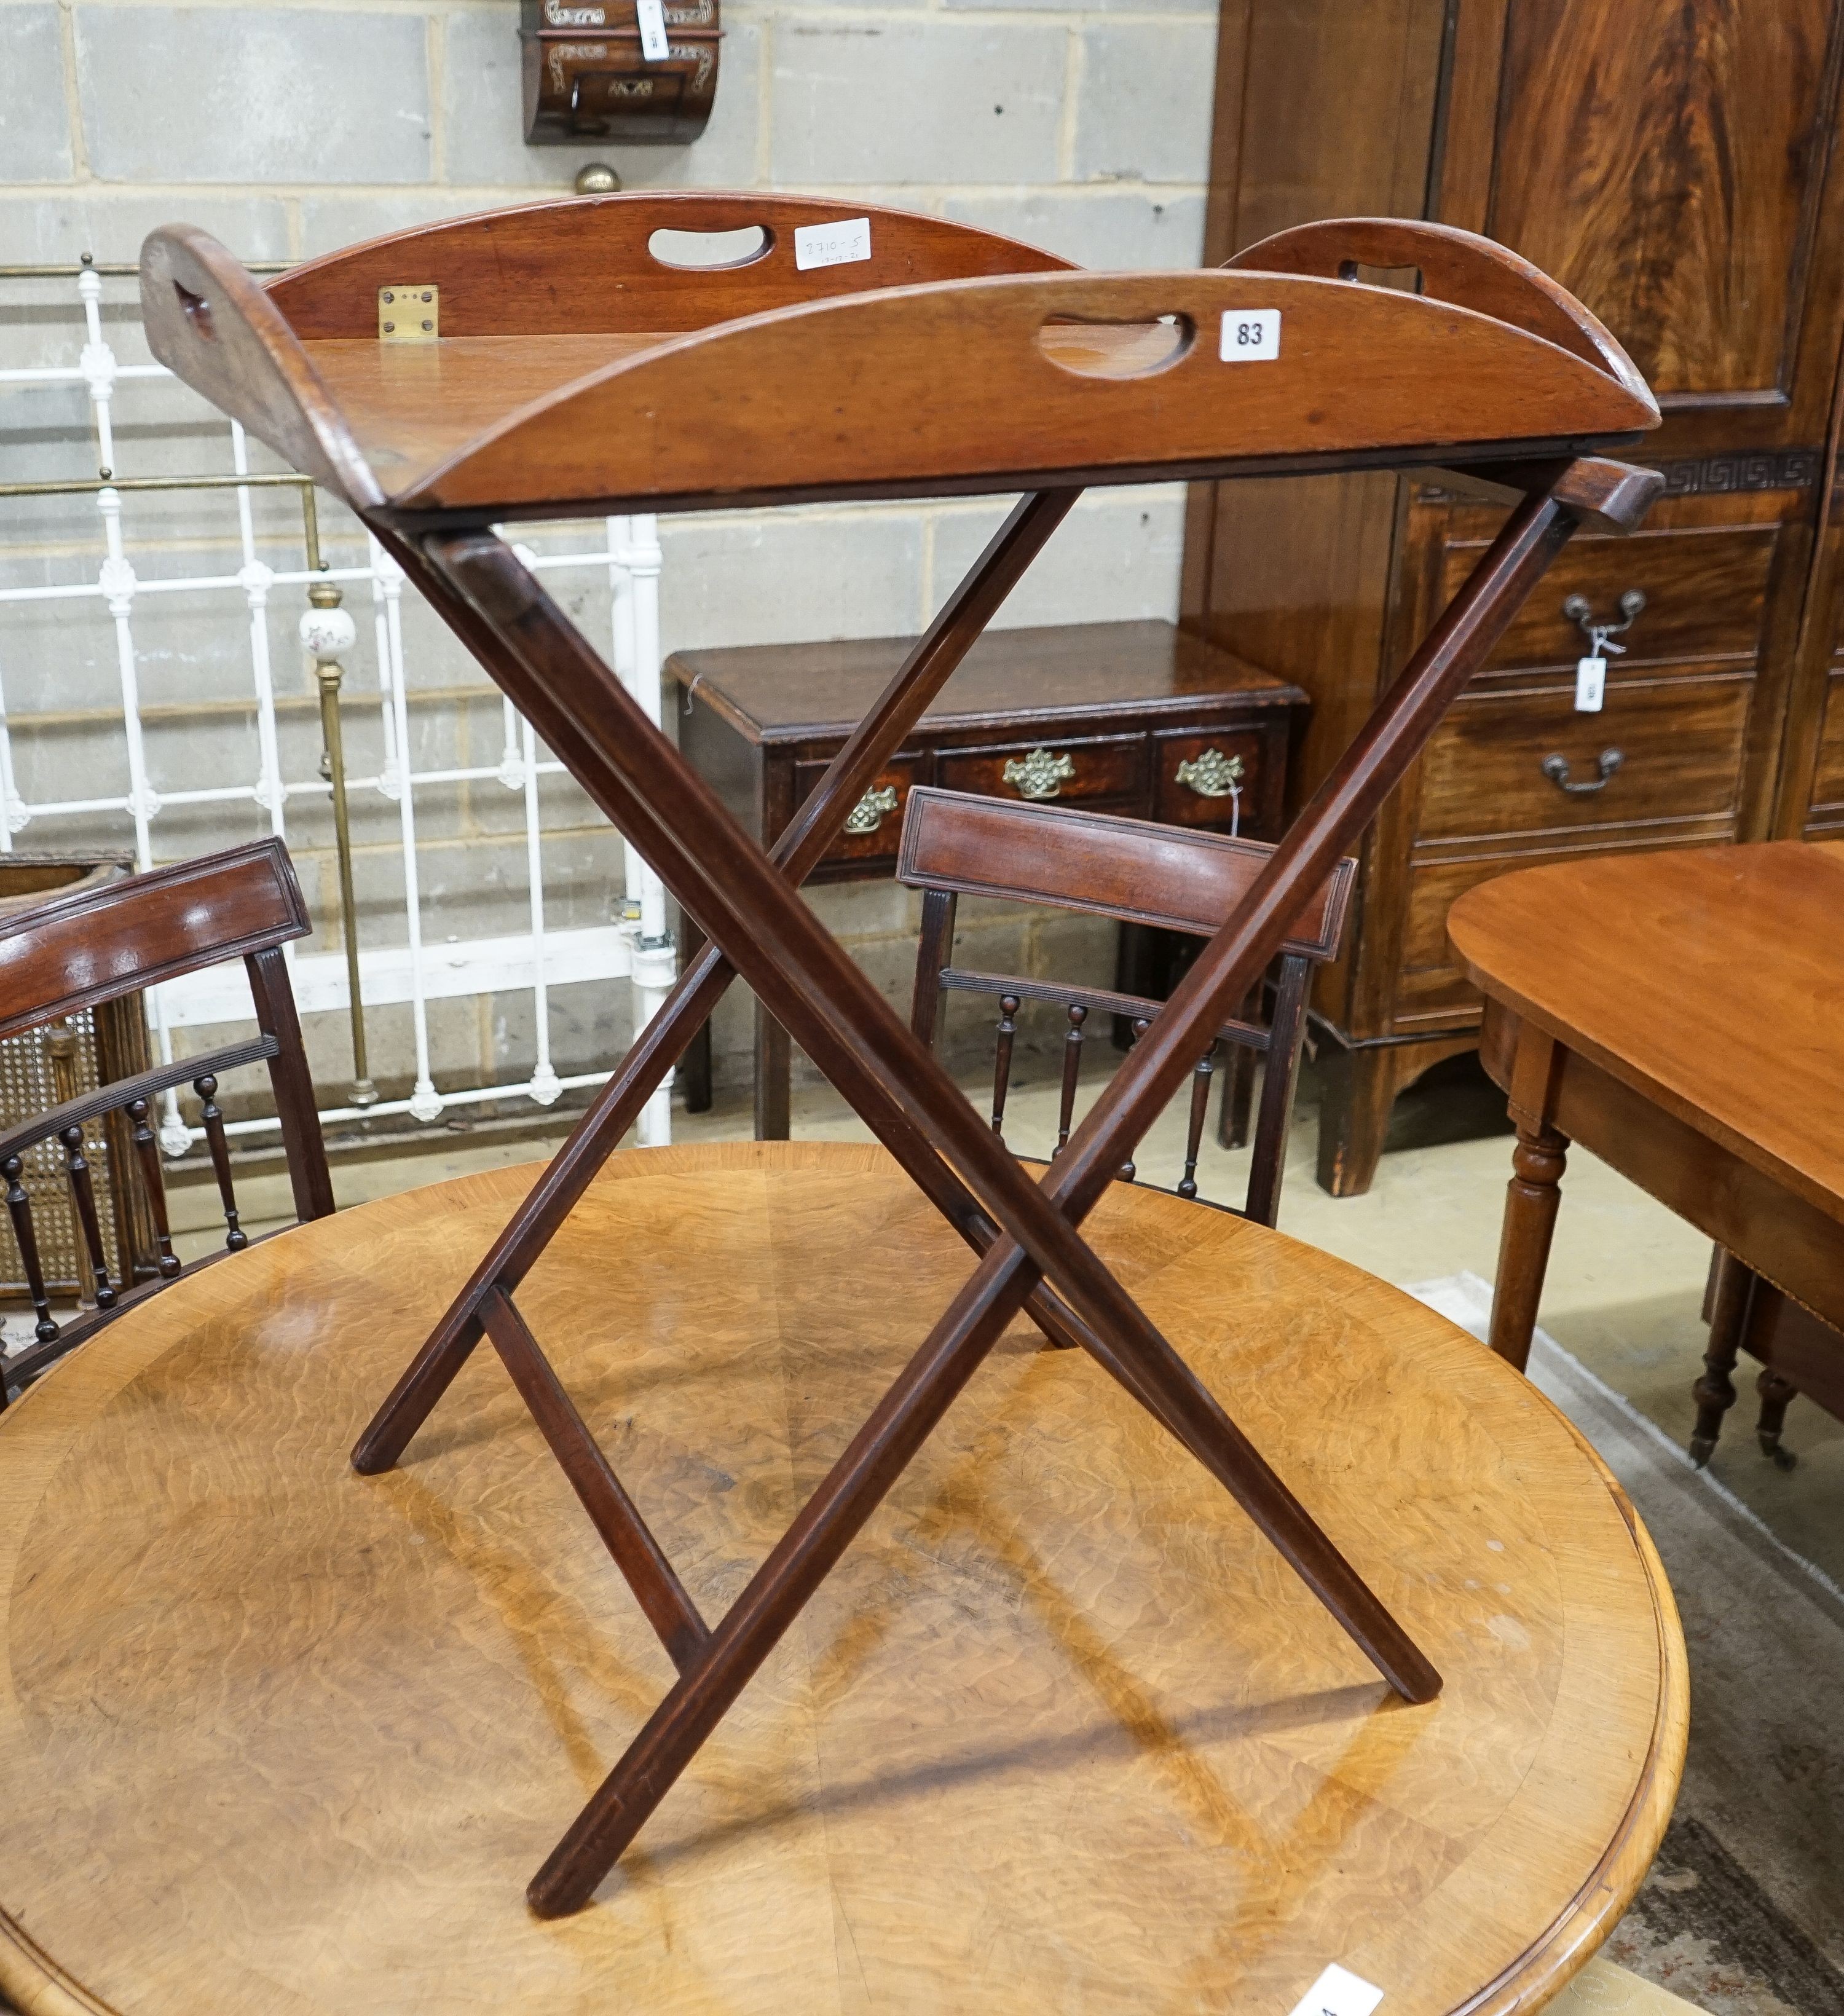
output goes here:
<path id="1" fill-rule="evenodd" d="M 865 220 L 869 258 L 802 268 L 794 234 Z M 728 266 L 675 266 L 649 250 L 659 230 L 764 234 Z M 726 192 L 566 198 L 393 232 L 310 260 L 268 284 L 304 341 L 373 337 L 377 290 L 441 288 L 443 337 L 556 337 L 685 331 L 867 288 L 1068 272 L 1068 260 L 971 224 L 875 204 Z"/>

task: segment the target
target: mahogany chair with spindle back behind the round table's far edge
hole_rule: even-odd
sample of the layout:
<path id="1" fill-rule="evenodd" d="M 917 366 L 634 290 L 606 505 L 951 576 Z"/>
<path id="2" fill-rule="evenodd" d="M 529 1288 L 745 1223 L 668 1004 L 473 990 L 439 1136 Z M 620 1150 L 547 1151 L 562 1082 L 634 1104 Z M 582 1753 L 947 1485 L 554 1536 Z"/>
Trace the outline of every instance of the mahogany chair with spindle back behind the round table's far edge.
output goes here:
<path id="1" fill-rule="evenodd" d="M 1159 1018 L 1163 1002 L 1060 980 L 951 966 L 957 899 L 990 895 L 1211 937 L 1233 915 L 1272 853 L 1274 849 L 1262 841 L 1231 841 L 1217 833 L 1157 827 L 1143 818 L 1110 818 L 1074 806 L 1012 804 L 931 786 L 911 790 L 897 857 L 897 881 L 923 891 L 921 948 L 909 1024 L 925 1044 L 933 1046 L 943 994 L 998 996 L 992 1129 L 1002 1135 L 1018 1010 L 1026 1000 L 1060 1006 L 1068 1020 L 1062 1046 L 1062 1101 L 1056 1117 L 1056 1153 L 1062 1153 L 1076 1109 L 1088 1016 L 1094 1012 L 1127 1016 L 1139 1042 Z M 1193 1066 L 1185 1173 L 1177 1183 L 1181 1198 L 1197 1195 L 1197 1147 L 1203 1139 L 1217 1052 L 1223 1046 L 1264 1052 L 1268 1073 L 1262 1081 L 1256 1153 L 1241 1216 L 1264 1226 L 1274 1224 L 1288 1157 L 1300 1042 L 1306 1034 L 1306 994 L 1312 968 L 1338 956 L 1354 869 L 1354 861 L 1340 861 L 1294 917 L 1278 960 L 1274 1012 L 1268 1024 L 1225 1022 Z M 1133 1181 L 1135 1173 L 1131 1161 L 1123 1163 L 1121 1175 L 1127 1181 Z"/>

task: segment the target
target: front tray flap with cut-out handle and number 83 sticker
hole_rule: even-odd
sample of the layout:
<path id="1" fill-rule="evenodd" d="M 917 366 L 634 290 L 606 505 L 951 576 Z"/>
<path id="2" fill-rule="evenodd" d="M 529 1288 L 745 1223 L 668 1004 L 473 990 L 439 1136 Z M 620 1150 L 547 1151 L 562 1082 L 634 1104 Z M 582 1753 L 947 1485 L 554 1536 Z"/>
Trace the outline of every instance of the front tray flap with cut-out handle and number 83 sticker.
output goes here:
<path id="1" fill-rule="evenodd" d="M 1225 361 L 1225 317 L 1264 310 L 1278 355 Z M 669 339 L 510 413 L 391 502 L 1004 490 L 1020 472 L 1104 482 L 1121 468 L 1397 448 L 1532 454 L 1657 423 L 1642 383 L 1421 294 L 1268 272 L 1030 274 Z"/>

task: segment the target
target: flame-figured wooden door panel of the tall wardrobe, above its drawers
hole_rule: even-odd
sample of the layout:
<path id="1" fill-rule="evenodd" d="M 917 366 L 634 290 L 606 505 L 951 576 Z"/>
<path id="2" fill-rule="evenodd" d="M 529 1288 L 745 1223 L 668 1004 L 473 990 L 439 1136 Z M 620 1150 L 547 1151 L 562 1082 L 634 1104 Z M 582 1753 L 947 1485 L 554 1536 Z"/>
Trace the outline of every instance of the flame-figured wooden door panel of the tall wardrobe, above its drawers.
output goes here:
<path id="1" fill-rule="evenodd" d="M 1844 4 L 1463 6 L 1501 20 L 1491 133 L 1461 119 L 1451 135 L 1489 151 L 1489 173 L 1459 177 L 1489 192 L 1485 232 L 1594 308 L 1669 417 L 1816 444 L 1836 359 L 1820 210 Z"/>

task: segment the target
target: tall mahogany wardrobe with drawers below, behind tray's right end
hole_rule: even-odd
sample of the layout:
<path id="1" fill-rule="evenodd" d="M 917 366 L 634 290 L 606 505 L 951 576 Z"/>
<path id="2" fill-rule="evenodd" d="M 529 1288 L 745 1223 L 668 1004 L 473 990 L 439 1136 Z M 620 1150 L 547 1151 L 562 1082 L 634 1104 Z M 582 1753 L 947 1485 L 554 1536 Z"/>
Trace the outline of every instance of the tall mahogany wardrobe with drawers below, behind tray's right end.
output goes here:
<path id="1" fill-rule="evenodd" d="M 1326 216 L 1483 232 L 1594 308 L 1665 413 L 1634 450 L 1665 472 L 1647 530 L 1568 546 L 1366 839 L 1314 994 L 1320 1181 L 1350 1195 L 1397 1091 L 1475 1042 L 1447 948 L 1473 883 L 1844 829 L 1844 0 L 1221 0 L 1217 65 L 1205 264 Z M 1395 476 L 1197 486 L 1183 621 L 1312 696 L 1292 802 L 1499 520 Z M 1622 599 L 1578 712 L 1586 625 Z"/>

